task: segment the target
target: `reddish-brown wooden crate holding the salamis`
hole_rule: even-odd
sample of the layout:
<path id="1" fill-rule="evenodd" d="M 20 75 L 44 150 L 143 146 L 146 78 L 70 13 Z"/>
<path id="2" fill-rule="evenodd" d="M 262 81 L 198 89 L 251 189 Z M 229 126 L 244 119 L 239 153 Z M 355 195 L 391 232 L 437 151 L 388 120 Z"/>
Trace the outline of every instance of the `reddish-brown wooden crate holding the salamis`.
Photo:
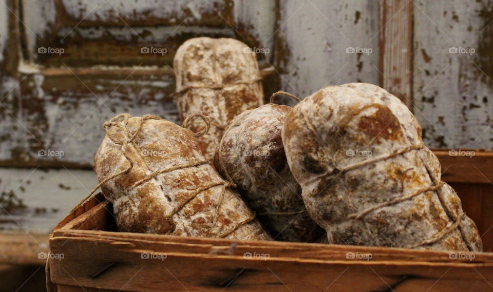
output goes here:
<path id="1" fill-rule="evenodd" d="M 484 235 L 491 208 L 481 204 L 493 200 L 479 191 L 491 185 L 478 182 L 491 176 L 493 153 L 435 154 Z M 111 209 L 100 193 L 55 227 L 47 265 L 52 291 L 493 291 L 491 252 L 115 232 Z M 483 237 L 485 250 L 493 249 L 491 238 Z"/>

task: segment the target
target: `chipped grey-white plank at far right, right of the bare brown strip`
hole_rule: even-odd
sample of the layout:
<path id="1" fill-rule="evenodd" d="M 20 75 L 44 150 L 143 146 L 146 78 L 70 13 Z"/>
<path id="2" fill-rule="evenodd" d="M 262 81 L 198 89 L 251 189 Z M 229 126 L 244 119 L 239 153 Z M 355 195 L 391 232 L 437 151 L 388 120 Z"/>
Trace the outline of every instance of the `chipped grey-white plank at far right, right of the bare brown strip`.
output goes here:
<path id="1" fill-rule="evenodd" d="M 478 15 L 482 8 L 452 0 L 414 7 L 414 114 L 430 147 L 493 149 L 493 82 L 476 59 L 487 29 Z M 449 52 L 461 47 L 476 52 Z"/>

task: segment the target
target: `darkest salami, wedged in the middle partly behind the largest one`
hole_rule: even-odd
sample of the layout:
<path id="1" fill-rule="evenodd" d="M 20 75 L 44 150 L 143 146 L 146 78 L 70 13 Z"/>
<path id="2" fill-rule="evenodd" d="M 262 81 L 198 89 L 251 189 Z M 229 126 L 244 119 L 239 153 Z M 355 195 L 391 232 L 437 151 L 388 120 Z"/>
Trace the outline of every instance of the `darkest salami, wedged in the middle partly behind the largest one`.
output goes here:
<path id="1" fill-rule="evenodd" d="M 266 104 L 239 114 L 224 131 L 214 165 L 236 184 L 274 239 L 314 242 L 325 231 L 306 212 L 281 141 L 281 128 L 290 110 L 289 106 Z"/>

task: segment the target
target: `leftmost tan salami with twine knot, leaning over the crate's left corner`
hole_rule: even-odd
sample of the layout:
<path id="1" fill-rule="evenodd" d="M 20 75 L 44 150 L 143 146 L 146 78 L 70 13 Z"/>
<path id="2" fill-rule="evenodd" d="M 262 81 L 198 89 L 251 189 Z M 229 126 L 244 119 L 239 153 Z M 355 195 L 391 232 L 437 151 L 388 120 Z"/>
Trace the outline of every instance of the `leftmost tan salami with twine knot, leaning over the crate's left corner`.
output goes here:
<path id="1" fill-rule="evenodd" d="M 132 137 L 138 129 L 139 117 L 131 117 L 126 125 L 117 119 L 108 134 L 119 141 Z M 142 129 L 133 142 L 122 145 L 105 136 L 94 158 L 94 171 L 98 180 L 111 177 L 129 166 L 127 157 L 134 163 L 128 173 L 102 185 L 105 197 L 113 203 L 117 227 L 120 231 L 160 233 L 192 237 L 221 237 L 235 239 L 269 240 L 257 220 L 240 222 L 253 217 L 253 212 L 239 195 L 225 188 L 225 181 L 206 162 L 191 130 L 166 120 L 144 120 Z M 139 185 L 139 181 L 154 171 L 180 165 L 184 167 L 156 174 Z M 216 186 L 208 187 L 216 184 Z M 136 186 L 138 185 L 138 186 Z M 198 192 L 193 198 L 193 194 Z M 189 198 L 193 198 L 189 200 Z M 189 200 L 189 201 L 188 201 Z M 182 208 L 178 206 L 184 204 Z M 173 211 L 180 209 L 176 213 Z M 229 231 L 234 232 L 229 233 Z"/>

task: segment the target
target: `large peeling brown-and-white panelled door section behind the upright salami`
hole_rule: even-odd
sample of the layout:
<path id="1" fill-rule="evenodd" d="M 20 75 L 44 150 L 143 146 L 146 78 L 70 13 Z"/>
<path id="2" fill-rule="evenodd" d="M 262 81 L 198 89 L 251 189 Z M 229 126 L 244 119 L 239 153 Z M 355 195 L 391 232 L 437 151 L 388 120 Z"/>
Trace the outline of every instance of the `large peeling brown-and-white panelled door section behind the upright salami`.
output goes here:
<path id="1" fill-rule="evenodd" d="M 17 3 L 20 62 L 2 95 L 0 166 L 89 168 L 102 124 L 121 112 L 178 122 L 173 57 L 188 38 L 237 38 L 267 49 L 258 60 L 270 66 L 274 0 Z M 266 94 L 278 90 L 264 80 Z"/>

